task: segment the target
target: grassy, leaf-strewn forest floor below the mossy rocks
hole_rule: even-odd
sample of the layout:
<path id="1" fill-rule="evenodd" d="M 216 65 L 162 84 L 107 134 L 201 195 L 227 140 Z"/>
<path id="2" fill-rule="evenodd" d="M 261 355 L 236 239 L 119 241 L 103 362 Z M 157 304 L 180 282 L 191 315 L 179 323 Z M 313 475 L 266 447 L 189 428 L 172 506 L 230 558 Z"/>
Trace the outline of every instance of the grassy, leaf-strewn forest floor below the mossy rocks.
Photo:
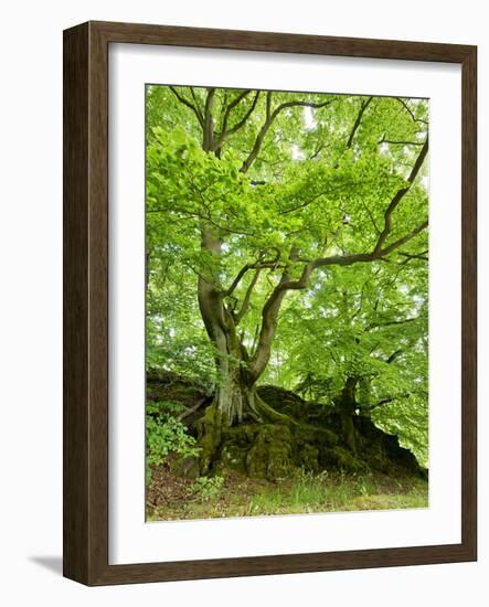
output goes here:
<path id="1" fill-rule="evenodd" d="M 298 471 L 293 478 L 270 482 L 228 471 L 225 477 L 189 480 L 161 465 L 153 469 L 147 489 L 149 521 L 427 507 L 427 480 L 394 479 L 380 472 Z"/>

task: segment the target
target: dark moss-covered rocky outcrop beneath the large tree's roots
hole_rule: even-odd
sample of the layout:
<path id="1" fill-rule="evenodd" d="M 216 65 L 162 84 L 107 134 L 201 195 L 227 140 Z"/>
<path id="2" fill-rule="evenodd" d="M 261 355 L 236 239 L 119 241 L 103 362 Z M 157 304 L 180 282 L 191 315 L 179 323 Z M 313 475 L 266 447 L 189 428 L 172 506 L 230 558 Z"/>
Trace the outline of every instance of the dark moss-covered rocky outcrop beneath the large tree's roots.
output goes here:
<path id="1" fill-rule="evenodd" d="M 164 395 L 163 383 L 158 384 L 159 397 Z M 194 406 L 194 402 L 189 402 L 192 396 L 193 401 L 202 400 L 198 390 L 191 396 L 181 379 L 169 386 L 173 400 L 178 393 L 184 394 L 184 404 L 189 408 Z M 151 391 L 151 385 L 148 388 Z M 294 468 L 311 472 L 344 470 L 364 473 L 376 470 L 391 476 L 425 473 L 413 454 L 400 446 L 397 437 L 385 434 L 368 417 L 352 417 L 352 448 L 351 436 L 342 435 L 343 419 L 333 407 L 306 402 L 297 394 L 275 386 L 261 386 L 258 393 L 275 411 L 288 416 L 289 423 L 247 423 L 227 427 L 220 424 L 219 414 L 212 406 L 202 407 L 198 418 L 192 415 L 189 423 L 190 432 L 199 436 L 202 447 L 201 473 L 222 473 L 231 469 L 268 480 L 287 478 Z M 205 433 L 199 430 L 202 427 L 205 427 Z M 181 464 L 179 469 L 184 473 L 185 464 Z M 195 475 L 194 462 L 189 469 Z"/>

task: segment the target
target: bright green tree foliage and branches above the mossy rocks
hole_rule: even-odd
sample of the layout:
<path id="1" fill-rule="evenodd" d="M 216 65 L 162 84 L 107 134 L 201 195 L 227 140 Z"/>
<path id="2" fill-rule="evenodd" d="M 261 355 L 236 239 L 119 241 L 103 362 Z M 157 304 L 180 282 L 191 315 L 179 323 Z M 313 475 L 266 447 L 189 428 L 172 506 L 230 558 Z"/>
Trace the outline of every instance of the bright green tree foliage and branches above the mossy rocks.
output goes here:
<path id="1" fill-rule="evenodd" d="M 427 120 L 421 99 L 149 86 L 148 371 L 212 390 L 234 364 L 325 407 L 353 386 L 426 466 Z M 149 416 L 150 462 L 195 447 L 170 419 Z"/>

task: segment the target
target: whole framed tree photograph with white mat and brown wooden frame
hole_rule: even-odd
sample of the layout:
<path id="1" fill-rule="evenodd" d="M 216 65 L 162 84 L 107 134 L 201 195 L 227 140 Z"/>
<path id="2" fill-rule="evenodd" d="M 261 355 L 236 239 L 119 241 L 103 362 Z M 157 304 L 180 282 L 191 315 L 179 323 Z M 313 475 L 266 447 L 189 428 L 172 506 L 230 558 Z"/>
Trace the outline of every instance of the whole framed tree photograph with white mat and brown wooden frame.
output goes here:
<path id="1" fill-rule="evenodd" d="M 64 575 L 475 561 L 475 46 L 64 32 Z"/>

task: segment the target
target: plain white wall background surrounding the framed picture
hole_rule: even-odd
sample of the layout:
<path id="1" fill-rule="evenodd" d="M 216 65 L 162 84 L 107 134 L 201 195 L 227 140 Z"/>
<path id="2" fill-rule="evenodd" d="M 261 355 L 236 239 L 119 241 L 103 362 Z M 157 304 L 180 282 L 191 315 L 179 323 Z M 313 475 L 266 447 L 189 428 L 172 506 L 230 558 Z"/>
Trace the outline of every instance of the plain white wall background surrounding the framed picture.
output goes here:
<path id="1" fill-rule="evenodd" d="M 489 505 L 487 3 L 85 0 L 3 6 L 0 94 L 0 599 L 187 606 L 486 605 Z M 88 19 L 479 45 L 479 563 L 85 588 L 61 577 L 62 30 Z M 3 216 L 4 213 L 4 216 Z M 486 373 L 485 373 L 486 372 Z M 7 600 L 4 600 L 7 599 Z"/>

